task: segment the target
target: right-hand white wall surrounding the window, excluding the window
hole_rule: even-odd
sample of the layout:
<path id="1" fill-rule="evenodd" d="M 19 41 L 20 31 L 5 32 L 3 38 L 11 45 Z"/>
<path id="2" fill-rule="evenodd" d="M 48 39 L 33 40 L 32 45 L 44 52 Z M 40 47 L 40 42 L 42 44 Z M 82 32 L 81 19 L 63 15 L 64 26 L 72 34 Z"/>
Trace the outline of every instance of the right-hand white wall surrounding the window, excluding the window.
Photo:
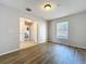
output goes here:
<path id="1" fill-rule="evenodd" d="M 57 39 L 57 23 L 69 22 L 69 39 Z M 49 41 L 86 49 L 86 12 L 49 22 Z"/>

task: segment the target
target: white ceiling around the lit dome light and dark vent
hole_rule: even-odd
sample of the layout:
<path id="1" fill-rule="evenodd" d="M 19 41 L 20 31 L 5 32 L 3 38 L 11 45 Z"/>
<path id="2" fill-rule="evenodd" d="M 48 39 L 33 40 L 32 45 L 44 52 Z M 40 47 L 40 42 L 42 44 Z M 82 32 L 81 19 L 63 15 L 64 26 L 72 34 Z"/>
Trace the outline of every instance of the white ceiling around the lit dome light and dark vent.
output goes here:
<path id="1" fill-rule="evenodd" d="M 52 4 L 51 11 L 41 9 L 41 5 L 46 3 L 45 1 Z M 86 0 L 0 0 L 0 3 L 45 20 L 59 18 L 86 10 Z M 30 8 L 33 11 L 27 12 L 26 8 Z"/>

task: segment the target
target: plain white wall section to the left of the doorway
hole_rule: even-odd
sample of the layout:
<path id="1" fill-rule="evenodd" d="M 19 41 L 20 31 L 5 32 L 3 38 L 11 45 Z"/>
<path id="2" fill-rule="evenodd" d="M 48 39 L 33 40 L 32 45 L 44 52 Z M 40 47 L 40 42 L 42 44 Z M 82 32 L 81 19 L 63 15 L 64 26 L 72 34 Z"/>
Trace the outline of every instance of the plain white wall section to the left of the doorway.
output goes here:
<path id="1" fill-rule="evenodd" d="M 19 49 L 20 13 L 0 4 L 0 54 Z"/>

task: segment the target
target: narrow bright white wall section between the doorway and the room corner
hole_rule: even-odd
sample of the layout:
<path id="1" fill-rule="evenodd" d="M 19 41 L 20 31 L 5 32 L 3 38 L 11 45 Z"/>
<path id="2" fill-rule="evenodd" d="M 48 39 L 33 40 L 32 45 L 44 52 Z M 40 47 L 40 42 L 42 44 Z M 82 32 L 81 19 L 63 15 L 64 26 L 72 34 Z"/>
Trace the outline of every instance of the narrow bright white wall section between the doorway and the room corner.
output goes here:
<path id="1" fill-rule="evenodd" d="M 42 43 L 47 41 L 47 22 L 39 20 L 38 23 L 38 42 Z"/>

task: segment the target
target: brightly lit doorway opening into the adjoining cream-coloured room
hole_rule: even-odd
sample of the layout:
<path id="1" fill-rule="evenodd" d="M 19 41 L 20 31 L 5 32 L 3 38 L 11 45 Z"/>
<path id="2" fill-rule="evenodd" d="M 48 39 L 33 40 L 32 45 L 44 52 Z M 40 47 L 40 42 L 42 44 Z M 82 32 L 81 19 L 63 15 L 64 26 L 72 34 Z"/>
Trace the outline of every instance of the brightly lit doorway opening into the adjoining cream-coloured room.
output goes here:
<path id="1" fill-rule="evenodd" d="M 20 48 L 25 49 L 38 44 L 38 23 L 20 17 Z"/>

